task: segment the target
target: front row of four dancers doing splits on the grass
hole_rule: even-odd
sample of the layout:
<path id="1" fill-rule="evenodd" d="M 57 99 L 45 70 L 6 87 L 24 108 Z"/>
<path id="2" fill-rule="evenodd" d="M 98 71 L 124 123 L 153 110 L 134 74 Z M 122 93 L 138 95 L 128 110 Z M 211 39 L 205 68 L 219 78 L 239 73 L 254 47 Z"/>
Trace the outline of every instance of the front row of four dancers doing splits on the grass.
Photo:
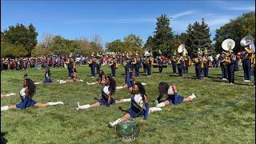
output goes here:
<path id="1" fill-rule="evenodd" d="M 119 122 L 122 122 L 126 118 L 138 118 L 143 117 L 142 122 L 145 121 L 149 114 L 152 112 L 162 110 L 162 107 L 168 105 L 178 105 L 182 102 L 190 102 L 196 98 L 195 94 L 191 94 L 188 97 L 183 97 L 178 94 L 177 86 L 168 85 L 166 82 L 160 82 L 158 85 L 159 96 L 155 100 L 155 106 L 150 107 L 149 99 L 147 98 L 146 89 L 141 82 L 134 82 L 131 79 L 130 70 L 128 70 L 126 76 L 127 87 L 130 92 L 130 98 L 123 98 L 120 100 L 114 99 L 114 94 L 116 92 L 116 83 L 114 78 L 106 77 L 102 83 L 102 98 L 98 99 L 98 102 L 94 104 L 86 104 L 78 106 L 76 110 L 90 109 L 98 106 L 110 106 L 122 102 L 130 102 L 130 109 L 123 110 L 122 118 L 118 118 L 114 122 L 109 122 L 110 127 L 116 126 Z M 30 78 L 24 78 L 23 88 L 20 91 L 20 98 L 22 102 L 19 102 L 17 105 L 2 106 L 1 111 L 17 109 L 22 110 L 35 106 L 35 107 L 46 107 L 54 105 L 63 105 L 64 102 L 36 102 L 33 99 L 33 96 L 36 91 L 36 86 Z M 143 108 L 145 107 L 145 108 Z M 121 108 L 122 110 L 122 108 Z"/>

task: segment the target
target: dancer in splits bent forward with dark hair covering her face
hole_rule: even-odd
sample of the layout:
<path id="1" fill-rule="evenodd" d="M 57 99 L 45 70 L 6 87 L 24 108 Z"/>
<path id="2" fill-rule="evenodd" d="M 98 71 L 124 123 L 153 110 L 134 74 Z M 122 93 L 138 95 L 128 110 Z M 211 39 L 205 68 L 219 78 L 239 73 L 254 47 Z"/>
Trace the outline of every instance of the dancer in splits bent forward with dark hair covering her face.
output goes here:
<path id="1" fill-rule="evenodd" d="M 175 85 L 169 86 L 166 82 L 160 82 L 158 85 L 158 90 L 159 96 L 157 100 L 155 100 L 156 107 L 163 107 L 170 104 L 177 105 L 181 102 L 190 102 L 194 98 L 196 98 L 194 94 L 186 98 L 182 97 L 182 95 L 178 94 L 177 87 Z M 167 96 L 167 98 L 164 97 L 165 95 Z"/>

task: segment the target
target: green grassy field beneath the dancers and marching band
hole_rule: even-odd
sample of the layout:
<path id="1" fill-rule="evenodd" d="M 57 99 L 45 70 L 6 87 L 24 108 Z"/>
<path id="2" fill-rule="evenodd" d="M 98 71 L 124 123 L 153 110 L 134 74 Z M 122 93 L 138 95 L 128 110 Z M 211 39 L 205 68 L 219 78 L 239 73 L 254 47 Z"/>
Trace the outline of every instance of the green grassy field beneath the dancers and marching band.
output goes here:
<path id="1" fill-rule="evenodd" d="M 109 67 L 102 67 L 110 74 Z M 166 106 L 162 111 L 151 114 L 142 123 L 135 143 L 254 143 L 255 142 L 255 88 L 252 83 L 243 82 L 243 71 L 235 73 L 235 84 L 223 82 L 220 69 L 210 70 L 209 79 L 194 80 L 194 67 L 190 67 L 188 78 L 177 78 L 170 73 L 170 67 L 158 74 L 152 69 L 150 78 L 141 73 L 138 81 L 146 82 L 150 106 L 158 97 L 158 83 L 168 82 L 178 86 L 178 93 L 187 96 L 196 94 L 193 102 L 177 106 Z M 45 70 L 29 69 L 29 78 L 42 82 Z M 142 71 L 142 69 L 141 69 Z M 16 93 L 1 99 L 1 106 L 20 102 L 19 90 L 26 71 L 7 70 L 1 73 L 1 93 Z M 65 68 L 51 68 L 54 81 L 66 79 Z M 124 69 L 117 70 L 116 82 L 124 81 Z M 37 102 L 62 101 L 64 105 L 26 110 L 1 112 L 1 132 L 8 143 L 121 143 L 115 129 L 107 122 L 122 117 L 118 106 L 126 109 L 130 103 L 121 103 L 98 109 L 75 110 L 80 104 L 94 103 L 100 98 L 101 86 L 87 86 L 94 82 L 88 66 L 78 67 L 78 78 L 85 82 L 72 84 L 37 85 L 34 100 Z M 130 98 L 128 90 L 119 90 L 114 98 Z"/>

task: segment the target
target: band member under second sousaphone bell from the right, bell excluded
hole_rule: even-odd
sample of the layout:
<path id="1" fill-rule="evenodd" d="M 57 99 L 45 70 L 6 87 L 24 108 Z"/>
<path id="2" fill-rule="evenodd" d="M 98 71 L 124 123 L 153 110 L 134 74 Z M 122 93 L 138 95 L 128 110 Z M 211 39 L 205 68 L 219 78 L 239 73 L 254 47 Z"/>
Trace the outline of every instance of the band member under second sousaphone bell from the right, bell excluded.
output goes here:
<path id="1" fill-rule="evenodd" d="M 234 62 L 236 61 L 236 56 L 233 50 L 227 53 L 226 66 L 227 66 L 227 78 L 230 84 L 234 83 Z"/>

